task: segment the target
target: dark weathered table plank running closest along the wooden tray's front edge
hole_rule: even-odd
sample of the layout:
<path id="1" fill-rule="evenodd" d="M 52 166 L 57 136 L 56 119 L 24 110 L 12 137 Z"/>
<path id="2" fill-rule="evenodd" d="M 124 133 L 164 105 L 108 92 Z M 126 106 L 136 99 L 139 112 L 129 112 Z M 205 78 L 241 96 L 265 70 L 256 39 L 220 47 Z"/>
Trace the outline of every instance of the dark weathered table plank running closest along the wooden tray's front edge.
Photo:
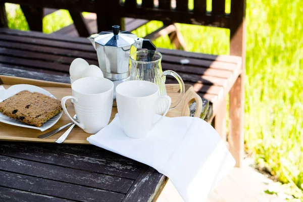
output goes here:
<path id="1" fill-rule="evenodd" d="M 16 153 L 16 150 L 18 150 L 18 153 Z M 3 143 L 0 145 L 0 155 L 129 179 L 136 179 L 141 169 L 138 166 L 119 162 L 119 159 L 107 161 L 105 159 L 59 153 L 22 144 Z"/>

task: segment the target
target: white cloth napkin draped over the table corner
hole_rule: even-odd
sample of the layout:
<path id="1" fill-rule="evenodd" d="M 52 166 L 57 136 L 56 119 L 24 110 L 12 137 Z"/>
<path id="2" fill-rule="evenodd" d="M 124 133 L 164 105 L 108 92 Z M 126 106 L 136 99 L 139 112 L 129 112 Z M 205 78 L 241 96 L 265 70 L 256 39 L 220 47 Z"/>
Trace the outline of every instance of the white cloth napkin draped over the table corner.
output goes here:
<path id="1" fill-rule="evenodd" d="M 216 130 L 193 117 L 164 117 L 146 137 L 133 139 L 125 135 L 116 114 L 87 141 L 155 168 L 170 178 L 185 201 L 206 201 L 235 165 Z"/>

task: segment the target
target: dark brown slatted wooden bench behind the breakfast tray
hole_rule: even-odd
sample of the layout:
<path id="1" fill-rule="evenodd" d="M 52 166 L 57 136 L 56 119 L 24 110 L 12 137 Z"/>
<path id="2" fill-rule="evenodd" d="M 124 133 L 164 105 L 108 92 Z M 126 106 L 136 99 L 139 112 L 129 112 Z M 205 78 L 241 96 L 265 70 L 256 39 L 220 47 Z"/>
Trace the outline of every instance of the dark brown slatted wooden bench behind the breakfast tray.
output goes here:
<path id="1" fill-rule="evenodd" d="M 188 0 L 176 0 L 175 8 L 171 6 L 172 1 L 159 0 L 158 6 L 155 6 L 153 0 L 142 0 L 141 5 L 137 5 L 136 0 L 125 0 L 125 2 L 121 3 L 116 0 L 0 0 L 0 4 L 12 2 L 40 9 L 45 7 L 67 9 L 73 11 L 75 15 L 80 15 L 83 11 L 96 13 L 97 19 L 100 19 L 97 20 L 99 31 L 109 30 L 114 24 L 120 25 L 123 29 L 125 25 L 123 19 L 125 17 L 163 21 L 165 26 L 159 30 L 171 29 L 171 25 L 176 22 L 230 29 L 231 56 L 195 54 L 161 48 L 159 48 L 159 51 L 163 53 L 163 69 L 171 69 L 180 73 L 184 81 L 193 84 L 195 90 L 202 97 L 211 100 L 212 114 L 209 117 L 209 121 L 212 121 L 213 126 L 221 134 L 222 138 L 227 139 L 229 149 L 236 159 L 236 165 L 240 166 L 244 149 L 245 0 L 231 0 L 230 14 L 225 13 L 225 0 L 213 0 L 211 12 L 206 10 L 206 0 L 194 0 L 193 10 L 188 8 Z M 1 13 L 3 13 L 3 9 L 0 9 L 0 22 L 2 26 L 6 26 L 5 15 Z M 9 31 L 5 32 L 8 33 Z M 74 53 L 74 57 L 82 57 L 91 64 L 97 64 L 94 50 L 86 39 L 70 38 L 70 43 L 63 43 L 60 42 L 59 35 L 49 36 L 52 37 L 52 40 L 57 40 L 54 44 L 54 41 L 46 42 L 44 35 L 41 36 L 41 40 L 35 40 L 35 42 L 26 42 L 24 38 L 20 38 L 18 35 L 20 35 L 19 32 L 11 34 L 11 36 L 7 34 L 0 36 L 0 40 L 4 42 L 3 46 L 16 48 L 13 50 L 3 49 L 0 63 L 13 66 L 18 64 L 22 68 L 30 68 L 35 71 L 46 71 L 49 73 L 56 71 L 56 74 L 66 74 L 72 60 L 72 58 L 64 57 L 66 54 L 71 53 L 71 51 L 66 49 L 69 48 Z M 35 37 L 39 37 L 38 33 L 35 34 Z M 173 36 L 171 39 L 173 40 Z M 19 40 L 21 40 L 22 46 L 19 44 Z M 39 41 L 37 48 L 40 51 L 36 51 L 39 53 L 32 56 L 32 53 L 27 51 L 28 43 L 38 43 L 37 41 Z M 77 41 L 80 44 L 72 43 L 72 41 Z M 47 46 L 47 48 L 43 48 L 43 45 Z M 62 48 L 54 49 L 54 46 Z M 26 51 L 21 50 L 21 48 Z M 58 53 L 58 57 L 51 59 L 56 61 L 55 64 L 49 61 L 50 59 L 43 58 L 43 52 L 51 49 Z M 89 52 L 89 54 L 84 56 L 82 52 Z M 12 55 L 20 58 L 15 58 Z M 26 64 L 27 57 L 38 57 L 41 61 L 36 61 L 35 64 L 31 64 L 29 67 Z M 43 68 L 44 70 L 42 70 Z M 228 137 L 226 137 L 225 117 L 228 94 L 229 132 Z"/>

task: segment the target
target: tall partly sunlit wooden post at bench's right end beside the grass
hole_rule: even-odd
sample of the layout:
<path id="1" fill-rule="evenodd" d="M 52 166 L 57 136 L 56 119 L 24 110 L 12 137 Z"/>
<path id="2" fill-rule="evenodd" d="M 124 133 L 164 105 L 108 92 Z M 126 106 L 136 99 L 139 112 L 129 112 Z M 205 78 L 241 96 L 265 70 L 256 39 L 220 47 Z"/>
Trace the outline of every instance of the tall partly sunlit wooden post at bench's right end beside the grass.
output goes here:
<path id="1" fill-rule="evenodd" d="M 242 57 L 242 73 L 229 92 L 229 148 L 240 167 L 244 155 L 245 0 L 231 0 L 230 55 Z"/>

